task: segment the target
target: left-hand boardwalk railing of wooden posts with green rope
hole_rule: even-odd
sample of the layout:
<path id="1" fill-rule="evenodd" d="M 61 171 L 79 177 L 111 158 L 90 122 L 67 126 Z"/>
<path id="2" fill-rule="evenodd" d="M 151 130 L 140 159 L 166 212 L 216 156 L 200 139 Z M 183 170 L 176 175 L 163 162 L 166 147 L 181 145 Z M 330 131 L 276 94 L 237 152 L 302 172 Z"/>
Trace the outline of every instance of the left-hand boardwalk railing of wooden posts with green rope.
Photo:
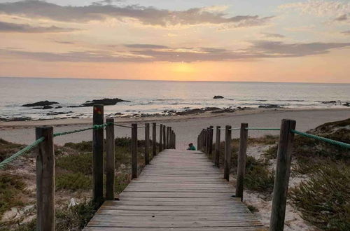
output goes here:
<path id="1" fill-rule="evenodd" d="M 92 178 L 93 190 L 92 200 L 96 207 L 99 207 L 104 198 L 114 200 L 114 174 L 115 174 L 115 127 L 126 127 L 132 129 L 132 178 L 137 178 L 137 128 L 145 128 L 145 165 L 149 164 L 149 148 L 152 147 L 153 157 L 157 154 L 157 131 L 156 123 L 152 124 L 152 146 L 150 146 L 150 124 L 137 127 L 120 125 L 114 123 L 113 118 L 106 118 L 104 123 L 104 105 L 93 106 L 93 125 L 79 130 L 69 132 L 53 133 L 52 126 L 36 127 L 36 140 L 22 148 L 20 151 L 0 162 L 0 170 L 5 169 L 11 162 L 22 155 L 25 155 L 37 148 L 36 155 L 36 230 L 55 230 L 55 153 L 53 147 L 54 137 L 75 134 L 92 130 Z M 104 127 L 106 127 L 106 197 L 104 197 Z M 136 132 L 135 132 L 136 127 Z M 165 125 L 160 125 L 165 131 Z M 167 134 L 164 139 L 167 140 L 167 148 L 176 148 L 176 134 L 171 127 L 167 127 Z M 160 144 L 161 146 L 161 144 Z M 163 148 L 163 147 L 162 147 Z M 135 165 L 136 164 L 136 165 Z"/>

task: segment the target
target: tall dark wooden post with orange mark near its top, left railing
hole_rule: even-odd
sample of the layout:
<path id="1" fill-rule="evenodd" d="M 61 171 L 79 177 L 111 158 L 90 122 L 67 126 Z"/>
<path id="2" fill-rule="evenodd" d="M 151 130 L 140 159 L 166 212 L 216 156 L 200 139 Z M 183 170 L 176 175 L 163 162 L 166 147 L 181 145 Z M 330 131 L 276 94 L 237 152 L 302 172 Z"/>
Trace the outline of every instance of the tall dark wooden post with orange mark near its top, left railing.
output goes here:
<path id="1" fill-rule="evenodd" d="M 102 125 L 104 123 L 104 106 L 101 104 L 94 105 L 93 124 Z M 104 129 L 98 128 L 92 130 L 92 178 L 93 190 L 92 200 L 95 206 L 103 202 L 104 197 Z"/>

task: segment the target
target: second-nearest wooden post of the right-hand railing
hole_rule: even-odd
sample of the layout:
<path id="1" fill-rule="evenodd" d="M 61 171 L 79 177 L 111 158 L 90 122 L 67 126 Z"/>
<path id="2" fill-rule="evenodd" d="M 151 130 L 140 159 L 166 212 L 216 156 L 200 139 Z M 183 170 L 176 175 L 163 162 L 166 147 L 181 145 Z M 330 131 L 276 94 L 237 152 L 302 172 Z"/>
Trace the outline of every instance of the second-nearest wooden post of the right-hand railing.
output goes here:
<path id="1" fill-rule="evenodd" d="M 246 171 L 246 143 L 248 139 L 247 127 L 247 123 L 241 123 L 236 181 L 236 197 L 241 197 L 241 202 L 243 202 L 244 172 Z"/>

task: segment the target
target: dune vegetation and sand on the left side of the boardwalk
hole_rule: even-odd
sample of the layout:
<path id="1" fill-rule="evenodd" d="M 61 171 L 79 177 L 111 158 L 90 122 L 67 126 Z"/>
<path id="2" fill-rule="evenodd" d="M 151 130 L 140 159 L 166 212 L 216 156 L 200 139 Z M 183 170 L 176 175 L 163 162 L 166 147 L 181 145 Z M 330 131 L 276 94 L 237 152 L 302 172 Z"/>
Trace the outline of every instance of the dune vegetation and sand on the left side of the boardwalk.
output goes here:
<path id="1" fill-rule="evenodd" d="M 118 195 L 130 182 L 131 139 L 117 138 L 115 144 L 115 192 Z M 139 141 L 139 169 L 144 167 L 144 144 L 144 141 Z M 23 147 L 3 140 L 0 140 L 0 146 L 0 160 Z M 90 221 L 96 211 L 90 199 L 92 190 L 91 150 L 92 141 L 55 146 L 56 230 L 80 230 Z M 34 155 L 34 152 L 29 153 L 15 160 L 13 165 L 0 172 L 0 230 L 35 230 Z M 74 204 L 71 204 L 72 200 Z"/>

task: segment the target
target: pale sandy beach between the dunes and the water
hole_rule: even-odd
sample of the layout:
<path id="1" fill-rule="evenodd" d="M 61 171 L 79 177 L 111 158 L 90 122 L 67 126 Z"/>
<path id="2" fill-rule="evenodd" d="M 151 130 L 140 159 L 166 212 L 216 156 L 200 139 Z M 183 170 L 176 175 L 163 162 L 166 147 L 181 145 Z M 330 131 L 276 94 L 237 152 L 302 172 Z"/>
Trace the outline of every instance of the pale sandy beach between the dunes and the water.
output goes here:
<path id="1" fill-rule="evenodd" d="M 131 123 L 162 123 L 170 126 L 176 132 L 176 148 L 186 148 L 187 144 L 197 143 L 197 135 L 202 128 L 210 125 L 231 125 L 239 127 L 240 123 L 248 123 L 250 127 L 279 127 L 281 119 L 290 118 L 297 121 L 297 130 L 305 132 L 323 123 L 350 118 L 350 109 L 251 109 L 236 111 L 234 113 L 200 113 L 186 116 L 161 116 L 147 118 L 115 118 L 116 123 L 130 125 Z M 92 118 L 60 119 L 60 120 L 31 120 L 13 121 L 0 123 L 0 138 L 20 144 L 30 144 L 35 139 L 35 126 L 53 125 L 54 132 L 66 132 L 70 130 L 89 127 Z M 157 134 L 159 127 L 157 127 Z M 117 137 L 130 137 L 129 128 L 116 127 Z M 221 132 L 221 140 L 223 141 Z M 255 131 L 250 130 L 250 137 L 260 137 L 264 134 L 279 134 L 278 131 Z M 239 137 L 239 132 L 232 132 L 232 137 Z M 144 129 L 139 129 L 139 139 L 144 139 Z M 157 135 L 157 140 L 158 140 Z M 66 142 L 79 142 L 92 140 L 91 130 L 55 137 L 55 144 Z"/>

